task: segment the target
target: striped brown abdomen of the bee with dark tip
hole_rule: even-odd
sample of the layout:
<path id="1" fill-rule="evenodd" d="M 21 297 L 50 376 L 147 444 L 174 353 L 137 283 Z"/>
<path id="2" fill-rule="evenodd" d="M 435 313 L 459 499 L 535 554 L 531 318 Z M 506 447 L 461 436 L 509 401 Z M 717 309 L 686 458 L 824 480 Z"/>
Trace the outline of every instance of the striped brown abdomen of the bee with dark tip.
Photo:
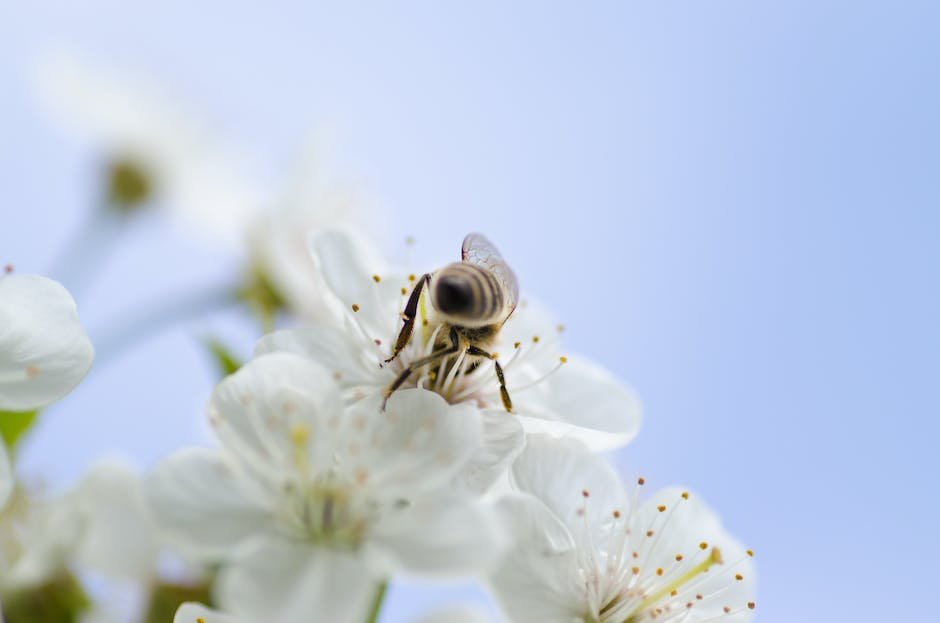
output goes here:
<path id="1" fill-rule="evenodd" d="M 506 293 L 492 272 L 455 262 L 431 276 L 431 304 L 452 324 L 479 327 L 502 322 Z"/>

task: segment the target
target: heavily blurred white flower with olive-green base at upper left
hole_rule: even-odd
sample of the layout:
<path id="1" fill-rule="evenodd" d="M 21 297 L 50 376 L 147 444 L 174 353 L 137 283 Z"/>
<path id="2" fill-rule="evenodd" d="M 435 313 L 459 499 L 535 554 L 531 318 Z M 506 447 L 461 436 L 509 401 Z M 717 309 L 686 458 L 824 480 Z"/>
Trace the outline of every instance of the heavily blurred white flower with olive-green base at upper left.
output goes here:
<path id="1" fill-rule="evenodd" d="M 134 208 L 156 198 L 185 227 L 241 243 L 260 191 L 178 98 L 67 54 L 43 59 L 37 83 L 50 112 L 100 150 L 110 199 Z"/>

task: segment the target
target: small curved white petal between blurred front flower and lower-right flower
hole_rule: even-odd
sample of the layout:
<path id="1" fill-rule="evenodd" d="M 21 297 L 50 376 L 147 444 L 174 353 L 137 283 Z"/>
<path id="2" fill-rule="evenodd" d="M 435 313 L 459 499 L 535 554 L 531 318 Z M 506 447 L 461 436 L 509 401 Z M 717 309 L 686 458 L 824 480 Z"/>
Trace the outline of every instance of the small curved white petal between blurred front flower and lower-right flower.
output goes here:
<path id="1" fill-rule="evenodd" d="M 468 491 L 476 493 L 485 492 L 506 474 L 525 445 L 525 432 L 515 416 L 496 409 L 487 409 L 480 416 L 483 445 L 458 476 Z"/>

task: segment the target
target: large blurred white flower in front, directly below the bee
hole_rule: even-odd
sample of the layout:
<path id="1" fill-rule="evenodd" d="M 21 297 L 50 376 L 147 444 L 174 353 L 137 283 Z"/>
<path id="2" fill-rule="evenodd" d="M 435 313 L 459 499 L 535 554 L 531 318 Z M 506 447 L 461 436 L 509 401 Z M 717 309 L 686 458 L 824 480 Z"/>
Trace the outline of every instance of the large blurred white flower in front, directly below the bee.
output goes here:
<path id="1" fill-rule="evenodd" d="M 223 561 L 219 599 L 257 620 L 346 621 L 394 572 L 461 574 L 500 550 L 491 513 L 449 487 L 477 450 L 471 409 L 412 390 L 344 407 L 331 372 L 258 357 L 216 389 L 222 448 L 181 451 L 151 481 L 182 551 Z"/>

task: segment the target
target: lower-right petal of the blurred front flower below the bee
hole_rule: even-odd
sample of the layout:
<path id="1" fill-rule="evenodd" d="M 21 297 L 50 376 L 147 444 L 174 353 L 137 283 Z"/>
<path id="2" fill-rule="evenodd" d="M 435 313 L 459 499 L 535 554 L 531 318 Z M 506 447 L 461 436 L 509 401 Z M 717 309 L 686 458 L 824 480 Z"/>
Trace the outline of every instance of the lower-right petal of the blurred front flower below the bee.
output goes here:
<path id="1" fill-rule="evenodd" d="M 505 546 L 493 508 L 446 495 L 383 517 L 370 540 L 376 564 L 389 575 L 398 570 L 435 577 L 484 571 Z"/>

